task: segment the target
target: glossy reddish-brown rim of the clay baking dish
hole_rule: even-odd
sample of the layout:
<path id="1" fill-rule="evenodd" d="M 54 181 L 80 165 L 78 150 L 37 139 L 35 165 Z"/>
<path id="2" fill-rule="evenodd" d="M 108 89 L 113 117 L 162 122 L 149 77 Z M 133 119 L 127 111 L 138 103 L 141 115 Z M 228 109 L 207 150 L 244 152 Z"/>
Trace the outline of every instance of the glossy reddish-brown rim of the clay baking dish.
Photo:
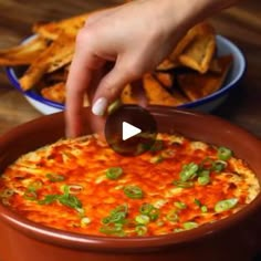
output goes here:
<path id="1" fill-rule="evenodd" d="M 261 142 L 251 133 L 244 130 L 242 127 L 239 127 L 234 124 L 229 123 L 226 119 L 220 117 L 196 113 L 185 109 L 177 108 L 166 108 L 163 106 L 150 106 L 152 113 L 155 116 L 166 117 L 166 115 L 174 116 L 176 115 L 187 115 L 192 117 L 195 121 L 215 121 L 216 124 L 222 124 L 222 126 L 227 129 L 225 135 L 233 135 L 237 133 L 239 136 L 248 138 L 250 145 L 253 145 L 254 150 L 261 153 Z M 90 111 L 90 108 L 87 108 Z M 171 115 L 173 114 L 173 115 Z M 33 119 L 29 123 L 22 124 L 11 132 L 0 137 L 0 144 L 8 146 L 15 136 L 24 135 L 24 132 L 35 130 L 36 128 L 45 126 L 49 127 L 48 123 L 56 123 L 58 119 L 61 121 L 63 118 L 63 112 L 55 113 L 48 116 L 42 116 L 36 119 Z M 38 126 L 39 124 L 39 126 Z M 31 125 L 31 126 L 30 126 Z M 29 128 L 29 129 L 28 129 Z M 170 132 L 170 130 L 169 130 Z M 230 134 L 229 134 L 230 133 Z M 18 137 L 17 137 L 18 138 Z M 257 144 L 257 145 L 255 145 Z M 9 145 L 10 146 L 10 145 Z M 0 152 L 1 153 L 1 152 Z M 1 156 L 1 155 L 0 155 Z M 259 175 L 259 180 L 261 180 L 261 174 Z M 7 208 L 2 203 L 0 203 L 0 219 L 4 222 L 8 222 L 14 229 L 22 231 L 25 234 L 29 234 L 33 238 L 40 238 L 40 240 L 54 243 L 56 246 L 62 246 L 66 248 L 77 248 L 82 250 L 92 249 L 92 250 L 104 250 L 104 251 L 143 251 L 148 248 L 163 248 L 169 246 L 180 246 L 184 243 L 191 243 L 196 240 L 203 239 L 208 236 L 216 234 L 225 229 L 229 229 L 232 226 L 239 223 L 240 221 L 247 219 L 251 213 L 255 212 L 261 206 L 261 194 L 257 196 L 257 198 L 251 201 L 248 206 L 244 207 L 243 210 L 240 210 L 230 217 L 219 220 L 215 223 L 207 223 L 200 226 L 197 229 L 182 231 L 181 233 L 171 233 L 165 236 L 154 236 L 154 237 L 127 237 L 127 238 L 117 238 L 117 237 L 102 237 L 102 236 L 88 236 L 74 232 L 66 232 L 63 230 L 44 227 L 40 223 L 35 223 L 30 221 L 11 209 Z"/>

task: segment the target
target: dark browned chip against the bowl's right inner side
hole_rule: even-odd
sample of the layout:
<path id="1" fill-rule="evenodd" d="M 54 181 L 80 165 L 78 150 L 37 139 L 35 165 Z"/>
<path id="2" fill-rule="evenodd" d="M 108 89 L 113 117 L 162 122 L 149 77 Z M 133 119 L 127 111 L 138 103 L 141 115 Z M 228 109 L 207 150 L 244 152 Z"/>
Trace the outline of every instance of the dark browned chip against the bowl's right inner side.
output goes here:
<path id="1" fill-rule="evenodd" d="M 217 59 L 217 63 L 222 69 L 221 74 L 208 72 L 206 74 L 188 73 L 178 75 L 178 86 L 190 101 L 197 101 L 218 91 L 232 64 L 232 55 Z"/>

